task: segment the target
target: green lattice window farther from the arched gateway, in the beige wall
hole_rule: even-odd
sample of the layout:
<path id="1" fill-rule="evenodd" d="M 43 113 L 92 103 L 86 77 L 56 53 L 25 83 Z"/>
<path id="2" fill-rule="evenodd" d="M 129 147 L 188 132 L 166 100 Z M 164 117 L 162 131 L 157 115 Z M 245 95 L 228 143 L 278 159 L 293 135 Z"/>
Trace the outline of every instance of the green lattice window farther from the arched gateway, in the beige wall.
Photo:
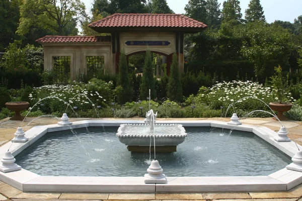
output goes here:
<path id="1" fill-rule="evenodd" d="M 67 82 L 70 79 L 70 56 L 54 56 L 53 70 L 58 82 Z"/>

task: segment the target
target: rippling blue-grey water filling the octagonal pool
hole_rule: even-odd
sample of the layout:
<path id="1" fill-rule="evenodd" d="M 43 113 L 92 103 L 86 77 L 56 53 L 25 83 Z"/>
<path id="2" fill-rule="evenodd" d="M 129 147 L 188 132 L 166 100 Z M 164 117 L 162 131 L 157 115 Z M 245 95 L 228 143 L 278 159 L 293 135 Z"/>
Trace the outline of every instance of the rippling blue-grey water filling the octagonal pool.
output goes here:
<path id="1" fill-rule="evenodd" d="M 149 153 L 131 153 L 115 136 L 118 127 L 89 127 L 44 135 L 16 156 L 23 169 L 43 176 L 143 176 Z M 166 176 L 269 175 L 291 162 L 249 132 L 185 127 L 177 152 L 157 153 Z M 152 153 L 151 159 L 154 159 Z"/>

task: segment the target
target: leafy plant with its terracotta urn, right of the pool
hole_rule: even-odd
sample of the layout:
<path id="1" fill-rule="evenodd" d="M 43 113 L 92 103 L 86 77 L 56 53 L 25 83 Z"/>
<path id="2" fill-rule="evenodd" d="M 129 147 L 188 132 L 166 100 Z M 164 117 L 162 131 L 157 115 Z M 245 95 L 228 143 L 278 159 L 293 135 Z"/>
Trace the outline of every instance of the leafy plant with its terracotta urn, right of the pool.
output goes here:
<path id="1" fill-rule="evenodd" d="M 280 121 L 288 120 L 284 115 L 283 112 L 287 112 L 291 109 L 292 104 L 286 102 L 288 90 L 288 77 L 282 76 L 282 68 L 281 66 L 275 67 L 276 73 L 271 76 L 271 84 L 273 86 L 274 94 L 278 101 L 269 103 L 270 108 L 273 111 L 278 112 L 277 118 Z M 273 117 L 276 120 L 275 117 Z"/>

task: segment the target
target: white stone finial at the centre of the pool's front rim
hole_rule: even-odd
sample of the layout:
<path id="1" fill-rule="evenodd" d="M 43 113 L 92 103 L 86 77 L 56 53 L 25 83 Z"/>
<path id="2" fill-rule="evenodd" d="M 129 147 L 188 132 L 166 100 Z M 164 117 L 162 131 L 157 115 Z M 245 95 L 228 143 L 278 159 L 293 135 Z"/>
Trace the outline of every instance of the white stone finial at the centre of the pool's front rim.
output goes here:
<path id="1" fill-rule="evenodd" d="M 160 166 L 158 160 L 153 160 L 147 169 L 148 174 L 144 175 L 145 183 L 167 183 L 163 168 Z"/>

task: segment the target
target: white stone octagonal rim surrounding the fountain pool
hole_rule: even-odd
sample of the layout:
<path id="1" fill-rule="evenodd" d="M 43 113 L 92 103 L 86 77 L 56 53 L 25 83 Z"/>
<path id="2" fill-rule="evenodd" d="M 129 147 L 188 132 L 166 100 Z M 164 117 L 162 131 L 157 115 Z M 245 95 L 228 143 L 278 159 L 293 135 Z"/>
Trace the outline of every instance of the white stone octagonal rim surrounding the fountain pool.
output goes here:
<path id="1" fill-rule="evenodd" d="M 25 132 L 29 141 L 14 143 L 11 152 L 14 156 L 33 144 L 48 132 L 63 131 L 83 127 L 118 127 L 121 124 L 140 124 L 134 120 L 86 120 L 73 122 L 69 126 L 37 126 Z M 158 124 L 182 124 L 184 127 L 217 127 L 252 132 L 286 155 L 292 157 L 296 150 L 294 142 L 277 142 L 278 134 L 267 127 L 253 125 L 228 125 L 226 122 L 196 121 L 157 121 Z M 4 155 L 11 142 L 0 147 L 0 157 Z M 302 148 L 298 145 L 299 148 Z M 16 161 L 18 164 L 18 161 Z M 164 173 L 165 173 L 165 168 Z M 219 176 L 219 177 L 168 177 L 167 184 L 145 184 L 144 177 L 77 177 L 41 176 L 21 169 L 14 172 L 0 172 L 0 180 L 22 191 L 58 192 L 213 192 L 213 191 L 285 191 L 302 183 L 302 172 L 285 167 L 267 176 Z M 232 187 L 230 187 L 230 185 Z"/>

